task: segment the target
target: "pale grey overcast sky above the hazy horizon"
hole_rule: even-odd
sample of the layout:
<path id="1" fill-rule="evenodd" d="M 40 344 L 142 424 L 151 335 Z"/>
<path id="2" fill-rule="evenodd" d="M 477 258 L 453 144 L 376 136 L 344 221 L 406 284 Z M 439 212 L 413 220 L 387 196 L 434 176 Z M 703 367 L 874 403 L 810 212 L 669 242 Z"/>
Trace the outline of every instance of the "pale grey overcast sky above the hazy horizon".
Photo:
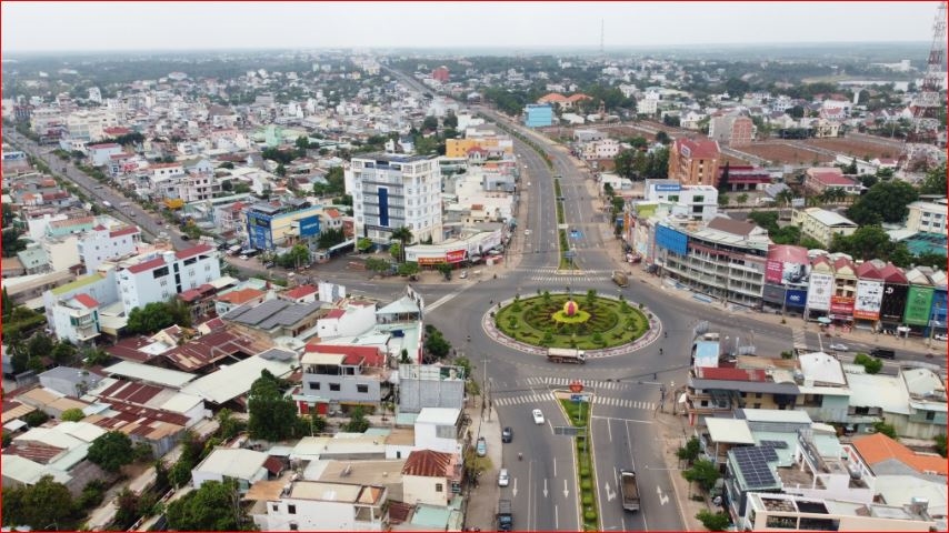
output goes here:
<path id="1" fill-rule="evenodd" d="M 2 2 L 2 50 L 930 41 L 938 2 Z"/>

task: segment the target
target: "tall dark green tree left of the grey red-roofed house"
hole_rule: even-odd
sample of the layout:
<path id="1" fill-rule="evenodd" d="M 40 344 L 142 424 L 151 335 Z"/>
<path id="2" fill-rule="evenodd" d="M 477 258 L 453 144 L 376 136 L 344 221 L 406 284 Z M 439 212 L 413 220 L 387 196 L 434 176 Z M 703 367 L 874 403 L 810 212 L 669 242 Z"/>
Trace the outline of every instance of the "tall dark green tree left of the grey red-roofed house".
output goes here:
<path id="1" fill-rule="evenodd" d="M 280 385 L 280 380 L 267 370 L 251 384 L 247 424 L 251 439 L 279 442 L 294 436 L 297 408 L 283 396 Z"/>

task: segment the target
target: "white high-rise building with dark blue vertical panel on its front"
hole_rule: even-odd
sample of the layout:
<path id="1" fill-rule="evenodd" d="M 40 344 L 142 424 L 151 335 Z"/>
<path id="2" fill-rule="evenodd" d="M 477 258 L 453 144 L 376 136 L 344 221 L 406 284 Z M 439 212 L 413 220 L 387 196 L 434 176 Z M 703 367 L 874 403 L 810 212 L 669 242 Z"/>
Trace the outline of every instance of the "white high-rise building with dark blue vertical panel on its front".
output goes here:
<path id="1" fill-rule="evenodd" d="M 436 157 L 370 153 L 346 171 L 357 238 L 389 242 L 406 227 L 413 241 L 442 241 L 441 170 Z"/>

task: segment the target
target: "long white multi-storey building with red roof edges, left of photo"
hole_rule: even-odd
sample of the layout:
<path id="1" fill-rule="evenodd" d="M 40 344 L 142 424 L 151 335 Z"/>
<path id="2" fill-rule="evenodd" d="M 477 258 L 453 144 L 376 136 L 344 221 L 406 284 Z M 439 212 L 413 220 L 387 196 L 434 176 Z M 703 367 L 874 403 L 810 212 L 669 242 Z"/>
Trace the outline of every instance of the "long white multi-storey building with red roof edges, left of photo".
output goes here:
<path id="1" fill-rule="evenodd" d="M 133 261 L 116 275 L 119 298 L 127 311 L 166 301 L 221 276 L 218 251 L 208 244 L 152 253 Z"/>

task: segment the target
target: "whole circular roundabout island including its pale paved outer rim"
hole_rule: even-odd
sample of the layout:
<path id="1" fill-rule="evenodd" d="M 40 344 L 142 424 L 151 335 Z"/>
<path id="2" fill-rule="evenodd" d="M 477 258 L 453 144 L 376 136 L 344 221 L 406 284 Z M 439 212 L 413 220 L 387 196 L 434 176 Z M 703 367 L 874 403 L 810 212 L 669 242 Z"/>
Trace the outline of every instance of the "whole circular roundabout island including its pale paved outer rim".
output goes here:
<path id="1" fill-rule="evenodd" d="M 546 355 L 548 348 L 577 349 L 588 359 L 639 350 L 662 329 L 643 304 L 592 290 L 518 295 L 491 308 L 481 322 L 488 336 L 507 348 L 536 355 Z"/>

